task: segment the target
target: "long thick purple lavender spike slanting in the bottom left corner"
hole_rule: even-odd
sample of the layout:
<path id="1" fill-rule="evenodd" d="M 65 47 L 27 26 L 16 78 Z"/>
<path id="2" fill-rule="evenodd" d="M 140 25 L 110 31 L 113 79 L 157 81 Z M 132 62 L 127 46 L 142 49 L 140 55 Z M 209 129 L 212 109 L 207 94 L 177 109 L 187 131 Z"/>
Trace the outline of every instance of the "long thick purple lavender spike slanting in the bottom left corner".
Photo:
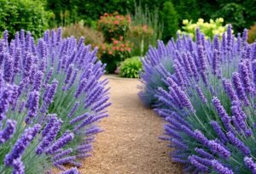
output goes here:
<path id="1" fill-rule="evenodd" d="M 21 137 L 15 143 L 14 148 L 9 152 L 9 154 L 5 155 L 5 166 L 11 166 L 12 164 L 14 164 L 14 160 L 17 160 L 21 157 L 21 155 L 25 152 L 26 148 L 32 142 L 33 138 L 36 137 L 40 128 L 41 126 L 38 124 L 33 127 L 26 128 Z"/>

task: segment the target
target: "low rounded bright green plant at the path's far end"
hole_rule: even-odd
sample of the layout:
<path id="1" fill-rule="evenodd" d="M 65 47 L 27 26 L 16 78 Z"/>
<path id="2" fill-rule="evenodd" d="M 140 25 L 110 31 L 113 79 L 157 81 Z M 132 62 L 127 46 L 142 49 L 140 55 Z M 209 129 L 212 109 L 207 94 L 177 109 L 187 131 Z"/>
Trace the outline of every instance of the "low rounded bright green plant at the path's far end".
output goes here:
<path id="1" fill-rule="evenodd" d="M 125 59 L 119 70 L 122 77 L 139 78 L 140 71 L 143 70 L 143 63 L 139 57 Z"/>

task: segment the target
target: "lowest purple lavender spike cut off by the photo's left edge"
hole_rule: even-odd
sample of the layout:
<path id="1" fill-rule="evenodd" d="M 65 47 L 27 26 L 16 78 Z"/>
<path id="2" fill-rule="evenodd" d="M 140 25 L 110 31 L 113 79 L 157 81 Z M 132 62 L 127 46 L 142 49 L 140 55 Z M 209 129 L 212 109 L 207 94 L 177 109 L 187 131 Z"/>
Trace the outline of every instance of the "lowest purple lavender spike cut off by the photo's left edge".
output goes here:
<path id="1" fill-rule="evenodd" d="M 5 128 L 3 129 L 3 131 L 0 132 L 0 144 L 6 142 L 7 140 L 9 140 L 9 138 L 13 137 L 13 134 L 15 133 L 16 124 L 16 121 L 6 121 Z"/>

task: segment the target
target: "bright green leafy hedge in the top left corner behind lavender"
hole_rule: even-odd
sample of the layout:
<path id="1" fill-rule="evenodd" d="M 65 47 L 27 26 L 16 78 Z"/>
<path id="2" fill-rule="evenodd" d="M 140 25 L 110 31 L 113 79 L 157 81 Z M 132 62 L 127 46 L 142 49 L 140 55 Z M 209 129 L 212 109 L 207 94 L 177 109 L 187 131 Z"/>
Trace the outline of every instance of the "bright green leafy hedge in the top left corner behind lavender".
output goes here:
<path id="1" fill-rule="evenodd" d="M 50 13 L 40 0 L 0 0 L 0 7 L 0 32 L 8 30 L 10 38 L 21 29 L 38 37 L 48 27 Z"/>

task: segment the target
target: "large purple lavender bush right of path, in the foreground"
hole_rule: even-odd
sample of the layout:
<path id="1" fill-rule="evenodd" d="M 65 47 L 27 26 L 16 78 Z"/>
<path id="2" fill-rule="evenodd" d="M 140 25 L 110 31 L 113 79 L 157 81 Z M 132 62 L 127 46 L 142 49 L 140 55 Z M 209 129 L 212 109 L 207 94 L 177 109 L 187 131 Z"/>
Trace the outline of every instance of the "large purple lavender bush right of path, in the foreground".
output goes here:
<path id="1" fill-rule="evenodd" d="M 186 173 L 256 173 L 256 43 L 246 41 L 231 25 L 221 40 L 197 30 L 195 42 L 171 41 L 175 72 L 162 76 L 155 111 Z"/>

